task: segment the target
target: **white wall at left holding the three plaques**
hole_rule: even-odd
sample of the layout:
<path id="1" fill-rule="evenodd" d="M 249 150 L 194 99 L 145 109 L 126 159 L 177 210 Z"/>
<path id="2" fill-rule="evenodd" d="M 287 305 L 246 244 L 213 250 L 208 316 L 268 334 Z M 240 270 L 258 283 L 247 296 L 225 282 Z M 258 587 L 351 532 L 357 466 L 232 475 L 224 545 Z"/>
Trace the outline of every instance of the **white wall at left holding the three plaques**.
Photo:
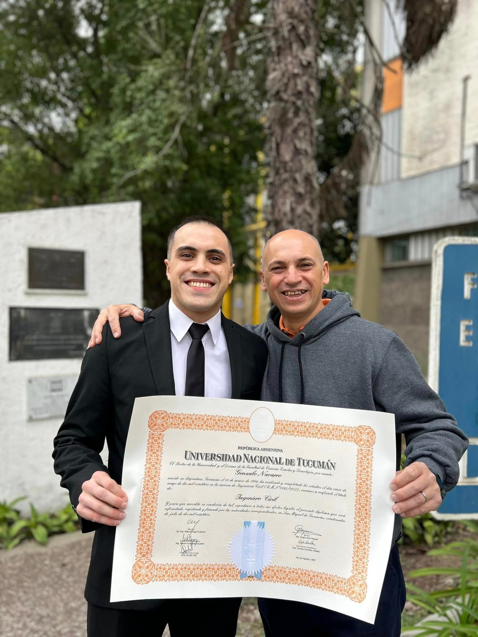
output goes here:
<path id="1" fill-rule="evenodd" d="M 0 500 L 27 496 L 41 511 L 68 503 L 54 474 L 62 418 L 27 419 L 27 382 L 78 375 L 81 358 L 10 361 L 9 308 L 103 308 L 142 303 L 140 203 L 0 214 Z M 27 248 L 85 252 L 85 291 L 28 290 Z"/>

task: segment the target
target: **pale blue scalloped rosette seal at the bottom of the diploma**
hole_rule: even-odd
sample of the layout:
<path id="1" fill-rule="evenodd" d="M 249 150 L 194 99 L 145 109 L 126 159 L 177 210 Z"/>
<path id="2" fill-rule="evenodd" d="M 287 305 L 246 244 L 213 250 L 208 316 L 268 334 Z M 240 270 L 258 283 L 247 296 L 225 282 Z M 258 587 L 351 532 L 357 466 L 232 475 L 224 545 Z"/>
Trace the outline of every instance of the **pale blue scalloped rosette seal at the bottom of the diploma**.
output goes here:
<path id="1" fill-rule="evenodd" d="M 263 569 L 272 562 L 274 543 L 264 526 L 257 520 L 244 522 L 229 543 L 229 557 L 240 569 L 242 580 L 251 575 L 260 580 Z"/>

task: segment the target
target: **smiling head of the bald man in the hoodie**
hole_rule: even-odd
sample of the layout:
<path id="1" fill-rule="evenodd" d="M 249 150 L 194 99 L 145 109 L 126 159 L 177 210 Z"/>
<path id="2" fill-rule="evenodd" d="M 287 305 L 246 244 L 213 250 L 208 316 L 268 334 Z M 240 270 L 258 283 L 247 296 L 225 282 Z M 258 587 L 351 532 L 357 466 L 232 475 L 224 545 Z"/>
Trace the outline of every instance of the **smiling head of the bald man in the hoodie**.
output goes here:
<path id="1" fill-rule="evenodd" d="M 279 308 L 286 325 L 304 325 L 322 309 L 329 264 L 310 234 L 286 230 L 268 241 L 261 279 L 263 290 Z"/>

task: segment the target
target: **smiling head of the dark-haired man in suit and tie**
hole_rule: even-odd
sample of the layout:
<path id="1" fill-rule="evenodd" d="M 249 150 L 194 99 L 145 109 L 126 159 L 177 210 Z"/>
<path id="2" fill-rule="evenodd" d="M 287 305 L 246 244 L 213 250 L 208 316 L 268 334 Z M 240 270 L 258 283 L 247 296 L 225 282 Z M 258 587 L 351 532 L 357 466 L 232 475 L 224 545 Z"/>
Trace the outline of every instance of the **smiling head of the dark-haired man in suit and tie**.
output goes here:
<path id="1" fill-rule="evenodd" d="M 186 224 L 177 230 L 168 257 L 173 303 L 197 322 L 213 317 L 233 279 L 226 235 L 214 225 Z"/>

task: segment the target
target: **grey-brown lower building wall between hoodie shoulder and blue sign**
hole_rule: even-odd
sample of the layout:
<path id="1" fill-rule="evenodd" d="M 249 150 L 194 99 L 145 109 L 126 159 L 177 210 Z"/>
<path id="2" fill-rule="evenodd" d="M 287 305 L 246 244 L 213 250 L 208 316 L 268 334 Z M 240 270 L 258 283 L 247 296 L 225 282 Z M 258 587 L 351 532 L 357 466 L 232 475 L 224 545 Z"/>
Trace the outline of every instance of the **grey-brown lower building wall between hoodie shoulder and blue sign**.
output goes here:
<path id="1" fill-rule="evenodd" d="M 402 338 L 425 375 L 428 368 L 430 285 L 429 261 L 382 268 L 379 323 L 393 329 Z"/>

